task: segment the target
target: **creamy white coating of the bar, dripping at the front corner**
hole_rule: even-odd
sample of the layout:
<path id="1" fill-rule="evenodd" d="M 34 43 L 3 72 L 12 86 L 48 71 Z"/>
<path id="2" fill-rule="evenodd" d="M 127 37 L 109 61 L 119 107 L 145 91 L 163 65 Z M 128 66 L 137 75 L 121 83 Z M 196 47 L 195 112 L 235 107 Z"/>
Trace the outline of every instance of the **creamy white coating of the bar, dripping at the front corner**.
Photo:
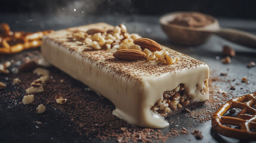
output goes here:
<path id="1" fill-rule="evenodd" d="M 113 57 L 117 49 L 94 50 L 74 41 L 74 30 L 92 28 L 113 29 L 106 23 L 60 30 L 44 36 L 42 55 L 58 69 L 97 91 L 115 104 L 115 116 L 131 125 L 148 128 L 165 128 L 169 125 L 163 117 L 150 108 L 162 99 L 164 91 L 175 89 L 180 83 L 192 102 L 208 100 L 208 87 L 201 94 L 209 67 L 202 61 L 162 46 L 172 55 L 180 57 L 174 64 L 158 61 L 119 61 Z"/>

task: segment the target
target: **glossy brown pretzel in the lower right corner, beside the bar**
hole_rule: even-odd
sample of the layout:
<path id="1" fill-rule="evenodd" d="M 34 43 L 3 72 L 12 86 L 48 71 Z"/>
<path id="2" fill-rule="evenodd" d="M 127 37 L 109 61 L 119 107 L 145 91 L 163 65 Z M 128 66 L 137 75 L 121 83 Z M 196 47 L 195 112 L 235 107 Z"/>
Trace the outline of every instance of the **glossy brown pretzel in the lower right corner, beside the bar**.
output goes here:
<path id="1" fill-rule="evenodd" d="M 256 110 L 253 108 L 255 105 L 256 92 L 227 101 L 212 116 L 212 128 L 221 135 L 230 138 L 256 140 Z M 242 111 L 236 117 L 223 116 L 232 108 L 240 108 Z M 235 125 L 239 126 L 240 129 L 224 125 Z"/>

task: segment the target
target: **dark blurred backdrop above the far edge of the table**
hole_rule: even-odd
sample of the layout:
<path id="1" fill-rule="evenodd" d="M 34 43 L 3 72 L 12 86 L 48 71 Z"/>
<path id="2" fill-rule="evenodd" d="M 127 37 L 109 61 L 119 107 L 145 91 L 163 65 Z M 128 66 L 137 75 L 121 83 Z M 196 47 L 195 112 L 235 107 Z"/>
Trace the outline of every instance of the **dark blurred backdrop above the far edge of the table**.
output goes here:
<path id="1" fill-rule="evenodd" d="M 199 11 L 224 18 L 256 18 L 255 0 L 1 0 L 0 13 L 141 14 Z"/>

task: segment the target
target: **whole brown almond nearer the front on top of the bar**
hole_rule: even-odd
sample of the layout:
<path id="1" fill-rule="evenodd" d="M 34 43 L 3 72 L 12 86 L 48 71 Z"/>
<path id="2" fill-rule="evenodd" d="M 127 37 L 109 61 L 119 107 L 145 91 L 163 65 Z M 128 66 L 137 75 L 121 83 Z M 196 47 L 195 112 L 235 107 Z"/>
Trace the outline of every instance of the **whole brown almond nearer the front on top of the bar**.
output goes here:
<path id="1" fill-rule="evenodd" d="M 119 49 L 113 56 L 118 60 L 135 61 L 144 59 L 146 54 L 138 49 Z"/>

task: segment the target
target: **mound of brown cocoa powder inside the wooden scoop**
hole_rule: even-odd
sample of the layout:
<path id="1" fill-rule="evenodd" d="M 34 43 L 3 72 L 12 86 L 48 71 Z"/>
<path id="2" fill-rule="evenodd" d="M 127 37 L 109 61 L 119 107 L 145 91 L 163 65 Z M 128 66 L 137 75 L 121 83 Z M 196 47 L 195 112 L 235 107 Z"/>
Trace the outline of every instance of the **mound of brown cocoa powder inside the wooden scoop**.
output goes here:
<path id="1" fill-rule="evenodd" d="M 169 21 L 169 24 L 177 24 L 187 27 L 204 27 L 214 23 L 214 19 L 201 13 L 182 13 Z"/>

